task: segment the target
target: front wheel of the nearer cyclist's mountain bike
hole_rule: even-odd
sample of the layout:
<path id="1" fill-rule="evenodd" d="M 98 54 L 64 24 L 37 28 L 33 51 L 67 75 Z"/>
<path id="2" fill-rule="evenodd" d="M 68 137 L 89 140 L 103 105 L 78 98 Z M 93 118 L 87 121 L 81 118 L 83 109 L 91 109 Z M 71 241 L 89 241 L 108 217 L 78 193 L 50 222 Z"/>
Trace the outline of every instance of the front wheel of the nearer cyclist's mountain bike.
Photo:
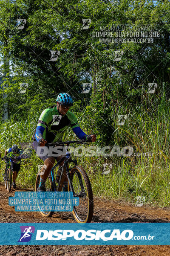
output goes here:
<path id="1" fill-rule="evenodd" d="M 76 184 L 77 177 L 75 175 L 78 177 L 78 180 L 79 180 L 78 183 L 80 184 L 80 187 L 81 187 L 81 192 L 78 192 L 78 193 L 77 193 L 77 189 L 79 185 L 77 187 L 77 184 Z M 76 177 L 75 181 L 74 181 L 74 176 Z M 81 166 L 74 166 L 71 169 L 70 177 L 71 177 L 71 183 L 73 185 L 75 195 L 79 197 L 79 206 L 74 206 L 72 211 L 74 218 L 78 223 L 91 222 L 93 217 L 93 212 L 94 212 L 94 200 L 93 200 L 93 192 L 91 189 L 91 183 L 88 178 L 88 175 L 86 174 L 85 169 L 83 169 Z M 85 187 L 87 192 L 85 192 Z M 70 191 L 69 183 L 68 183 L 68 191 Z M 88 204 L 87 204 L 88 209 L 85 209 L 86 206 L 83 203 L 84 201 L 83 199 L 86 198 L 86 196 L 88 199 Z M 82 212 L 82 210 L 79 208 L 81 207 L 81 205 L 82 205 L 82 208 L 84 208 L 84 211 L 86 212 L 85 215 Z"/>

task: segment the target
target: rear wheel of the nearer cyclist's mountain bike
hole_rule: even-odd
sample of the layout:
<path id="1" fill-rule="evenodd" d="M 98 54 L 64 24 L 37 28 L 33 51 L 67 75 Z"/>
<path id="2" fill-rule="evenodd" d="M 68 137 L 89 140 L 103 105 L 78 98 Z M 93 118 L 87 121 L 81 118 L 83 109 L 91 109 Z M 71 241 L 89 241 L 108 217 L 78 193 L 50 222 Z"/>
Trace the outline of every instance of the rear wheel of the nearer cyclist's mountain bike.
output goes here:
<path id="1" fill-rule="evenodd" d="M 40 171 L 41 172 L 41 171 Z M 40 172 L 37 174 L 36 177 L 36 182 L 35 182 L 35 191 L 37 191 L 37 188 L 40 184 Z M 51 178 L 51 174 L 48 175 L 48 179 L 45 183 L 45 187 L 46 187 L 46 191 L 54 191 L 54 187 L 53 187 L 53 183 L 52 183 L 52 178 Z M 46 211 L 40 211 L 40 214 L 43 217 L 51 217 L 53 215 L 54 212 L 46 212 Z"/>

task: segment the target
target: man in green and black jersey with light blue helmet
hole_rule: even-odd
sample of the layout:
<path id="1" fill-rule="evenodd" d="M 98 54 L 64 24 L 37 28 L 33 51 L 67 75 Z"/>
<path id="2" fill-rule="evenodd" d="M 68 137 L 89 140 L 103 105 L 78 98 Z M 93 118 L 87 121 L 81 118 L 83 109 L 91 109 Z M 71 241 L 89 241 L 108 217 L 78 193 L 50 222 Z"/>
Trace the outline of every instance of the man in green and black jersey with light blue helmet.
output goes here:
<path id="1" fill-rule="evenodd" d="M 78 125 L 77 117 L 69 111 L 69 108 L 73 105 L 73 99 L 68 93 L 59 93 L 56 102 L 57 105 L 46 108 L 40 115 L 36 131 L 33 135 L 33 145 L 36 152 L 38 146 L 43 147 L 46 143 L 62 141 L 62 135 L 68 126 L 71 126 L 71 129 L 80 140 L 91 139 L 92 142 L 96 141 L 96 135 L 85 134 Z M 43 175 L 40 177 L 40 185 L 37 191 L 44 192 L 45 182 L 54 166 L 55 159 L 58 162 L 62 156 L 50 157 L 47 154 L 45 156 L 40 156 L 40 158 L 44 161 L 44 166 L 41 169 Z M 60 166 L 62 166 L 62 163 Z M 59 180 L 59 173 L 57 174 L 57 177 Z M 68 191 L 67 189 L 67 177 L 65 177 L 62 191 Z"/>

